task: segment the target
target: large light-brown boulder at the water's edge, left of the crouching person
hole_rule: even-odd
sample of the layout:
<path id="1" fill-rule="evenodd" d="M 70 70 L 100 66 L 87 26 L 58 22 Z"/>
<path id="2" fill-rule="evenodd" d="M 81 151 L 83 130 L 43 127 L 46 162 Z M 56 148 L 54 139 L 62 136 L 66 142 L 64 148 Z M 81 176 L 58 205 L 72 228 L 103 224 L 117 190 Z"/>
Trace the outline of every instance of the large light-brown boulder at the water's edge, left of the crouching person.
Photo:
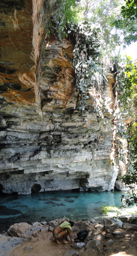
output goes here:
<path id="1" fill-rule="evenodd" d="M 32 228 L 32 225 L 29 225 L 27 222 L 21 222 L 21 223 L 15 223 L 14 225 L 11 225 L 10 228 L 7 230 L 7 232 L 11 237 L 25 238 L 24 233 L 31 228 Z"/>

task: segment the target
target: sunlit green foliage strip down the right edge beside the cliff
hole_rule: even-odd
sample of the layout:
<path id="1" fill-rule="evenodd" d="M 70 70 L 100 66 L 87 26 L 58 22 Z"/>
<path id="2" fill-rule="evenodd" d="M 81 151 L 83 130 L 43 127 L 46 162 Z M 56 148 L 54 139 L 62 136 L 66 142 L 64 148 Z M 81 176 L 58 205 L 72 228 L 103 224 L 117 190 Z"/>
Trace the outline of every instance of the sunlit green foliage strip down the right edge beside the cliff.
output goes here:
<path id="1" fill-rule="evenodd" d="M 137 204 L 137 195 L 135 192 L 135 185 L 137 184 L 137 63 L 132 63 L 131 57 L 127 56 L 126 60 L 120 64 L 117 63 L 117 93 L 119 95 L 119 113 L 117 113 L 117 132 L 121 137 L 123 136 L 128 142 L 128 164 L 129 172 L 121 179 L 125 185 L 131 189 L 127 195 L 122 195 L 122 201 L 126 205 Z M 122 123 L 127 120 L 127 125 Z M 117 134 L 117 136 L 118 136 Z M 123 157 L 123 148 L 121 144 L 117 144 L 118 159 Z M 123 160 L 123 159 L 122 159 Z M 124 161 L 124 160 L 123 160 Z"/>

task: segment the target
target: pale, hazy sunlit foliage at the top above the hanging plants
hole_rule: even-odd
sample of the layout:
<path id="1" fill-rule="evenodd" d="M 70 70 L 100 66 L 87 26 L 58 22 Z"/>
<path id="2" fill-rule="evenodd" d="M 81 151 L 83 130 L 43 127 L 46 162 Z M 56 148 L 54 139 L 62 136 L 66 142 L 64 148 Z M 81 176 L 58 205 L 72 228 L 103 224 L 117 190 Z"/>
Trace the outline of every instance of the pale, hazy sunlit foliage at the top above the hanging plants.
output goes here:
<path id="1" fill-rule="evenodd" d="M 92 22 L 93 27 L 100 28 L 100 52 L 103 57 L 106 54 L 112 55 L 112 51 L 121 44 L 121 37 L 113 30 L 111 24 L 118 18 L 123 2 L 123 0 L 84 0 L 79 3 L 84 19 Z"/>

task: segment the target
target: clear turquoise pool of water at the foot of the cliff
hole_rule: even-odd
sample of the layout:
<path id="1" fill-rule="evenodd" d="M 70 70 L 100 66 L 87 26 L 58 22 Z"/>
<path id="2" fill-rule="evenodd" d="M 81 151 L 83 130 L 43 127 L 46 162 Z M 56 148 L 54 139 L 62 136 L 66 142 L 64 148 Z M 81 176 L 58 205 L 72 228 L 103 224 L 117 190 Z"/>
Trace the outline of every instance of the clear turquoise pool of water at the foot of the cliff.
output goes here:
<path id="1" fill-rule="evenodd" d="M 120 208 L 123 192 L 44 192 L 31 195 L 2 195 L 0 197 L 0 226 L 2 230 L 15 222 L 49 221 L 68 217 L 75 220 L 101 221 L 117 213 L 135 213 L 137 207 Z M 117 207 L 108 213 L 102 213 L 104 206 Z"/>

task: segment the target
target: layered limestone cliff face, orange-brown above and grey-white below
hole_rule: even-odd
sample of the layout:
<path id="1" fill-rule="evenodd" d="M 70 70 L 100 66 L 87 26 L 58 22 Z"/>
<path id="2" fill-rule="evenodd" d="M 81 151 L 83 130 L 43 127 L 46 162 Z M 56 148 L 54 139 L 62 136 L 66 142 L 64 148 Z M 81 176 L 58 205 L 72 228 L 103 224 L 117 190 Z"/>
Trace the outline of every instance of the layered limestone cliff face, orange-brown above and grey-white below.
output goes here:
<path id="1" fill-rule="evenodd" d="M 66 39 L 46 40 L 36 79 L 42 1 L 21 2 L 0 3 L 0 190 L 110 190 L 117 177 L 110 161 L 113 117 L 97 122 L 91 100 L 84 117 L 74 110 L 74 46 Z M 111 83 L 108 95 L 114 102 Z"/>

